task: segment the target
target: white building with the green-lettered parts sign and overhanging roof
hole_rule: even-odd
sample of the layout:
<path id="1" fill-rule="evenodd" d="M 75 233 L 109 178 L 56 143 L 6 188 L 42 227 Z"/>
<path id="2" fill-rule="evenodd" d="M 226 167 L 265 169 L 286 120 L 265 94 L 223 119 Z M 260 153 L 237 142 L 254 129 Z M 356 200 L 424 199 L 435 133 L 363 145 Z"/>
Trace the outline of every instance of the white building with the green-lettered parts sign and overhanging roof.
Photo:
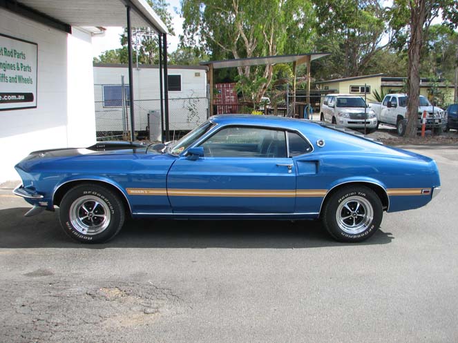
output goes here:
<path id="1" fill-rule="evenodd" d="M 144 0 L 0 1 L 0 182 L 33 150 L 95 142 L 92 36 L 126 26 L 126 8 L 166 35 Z"/>

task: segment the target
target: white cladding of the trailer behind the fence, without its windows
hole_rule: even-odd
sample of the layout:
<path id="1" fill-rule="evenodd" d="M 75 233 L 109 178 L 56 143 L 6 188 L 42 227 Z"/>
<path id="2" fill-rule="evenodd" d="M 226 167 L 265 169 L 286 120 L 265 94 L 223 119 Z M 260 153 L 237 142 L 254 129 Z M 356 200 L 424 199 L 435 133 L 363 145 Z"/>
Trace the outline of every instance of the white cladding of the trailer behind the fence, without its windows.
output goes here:
<path id="1" fill-rule="evenodd" d="M 191 130 L 207 120 L 207 73 L 202 68 L 169 66 L 169 75 L 181 75 L 180 92 L 169 91 L 169 118 L 171 130 Z M 199 76 L 195 76 L 199 73 Z M 122 126 L 121 108 L 104 108 L 102 85 L 120 85 L 121 75 L 128 84 L 128 68 L 125 66 L 95 66 L 94 94 L 97 130 L 116 130 Z M 135 130 L 146 127 L 148 110 L 160 110 L 159 68 L 134 68 Z M 191 98 L 191 99 L 190 99 Z M 197 116 L 191 116 L 189 108 L 195 108 Z"/>

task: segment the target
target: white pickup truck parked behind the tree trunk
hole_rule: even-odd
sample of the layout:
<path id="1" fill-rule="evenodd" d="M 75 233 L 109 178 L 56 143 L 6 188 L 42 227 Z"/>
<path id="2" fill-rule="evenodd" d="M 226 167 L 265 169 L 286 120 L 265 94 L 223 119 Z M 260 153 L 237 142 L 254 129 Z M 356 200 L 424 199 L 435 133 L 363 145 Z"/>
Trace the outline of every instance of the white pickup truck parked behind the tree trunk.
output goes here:
<path id="1" fill-rule="evenodd" d="M 403 136 L 407 119 L 407 95 L 405 94 L 388 94 L 383 98 L 382 103 L 369 104 L 371 110 L 374 110 L 378 124 L 388 124 L 396 126 L 397 133 Z M 421 116 L 426 110 L 426 128 L 434 130 L 434 133 L 440 135 L 447 126 L 447 114 L 437 106 L 432 106 L 430 101 L 420 95 L 420 106 L 418 108 L 417 128 L 421 128 Z"/>

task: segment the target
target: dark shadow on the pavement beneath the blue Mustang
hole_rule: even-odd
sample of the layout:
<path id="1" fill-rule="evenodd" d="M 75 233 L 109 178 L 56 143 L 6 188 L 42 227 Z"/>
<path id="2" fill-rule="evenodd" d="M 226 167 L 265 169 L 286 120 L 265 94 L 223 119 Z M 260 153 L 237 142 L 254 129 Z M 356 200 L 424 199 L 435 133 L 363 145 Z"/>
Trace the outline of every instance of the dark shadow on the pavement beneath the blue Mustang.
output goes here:
<path id="1" fill-rule="evenodd" d="M 317 248 L 335 242 L 320 221 L 129 219 L 106 244 L 80 244 L 62 231 L 57 213 L 23 217 L 29 208 L 0 210 L 0 248 Z M 377 231 L 357 245 L 388 244 Z M 350 244 L 355 245 L 355 244 Z"/>

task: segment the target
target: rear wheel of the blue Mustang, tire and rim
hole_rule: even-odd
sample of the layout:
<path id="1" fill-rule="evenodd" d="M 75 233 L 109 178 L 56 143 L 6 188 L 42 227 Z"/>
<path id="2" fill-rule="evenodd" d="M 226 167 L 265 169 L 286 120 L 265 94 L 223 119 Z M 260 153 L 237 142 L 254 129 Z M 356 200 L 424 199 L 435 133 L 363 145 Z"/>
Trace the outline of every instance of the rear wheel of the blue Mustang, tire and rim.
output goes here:
<path id="1" fill-rule="evenodd" d="M 374 235 L 381 224 L 381 200 L 365 186 L 336 190 L 323 209 L 323 224 L 339 242 L 362 242 Z"/>

